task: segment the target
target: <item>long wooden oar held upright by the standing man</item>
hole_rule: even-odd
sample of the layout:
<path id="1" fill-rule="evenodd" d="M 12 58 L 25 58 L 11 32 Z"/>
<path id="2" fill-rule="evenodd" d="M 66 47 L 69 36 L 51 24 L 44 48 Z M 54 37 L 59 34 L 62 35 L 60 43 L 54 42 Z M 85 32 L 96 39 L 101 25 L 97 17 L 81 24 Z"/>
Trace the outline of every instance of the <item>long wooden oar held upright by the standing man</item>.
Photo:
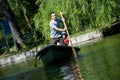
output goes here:
<path id="1" fill-rule="evenodd" d="M 61 15 L 61 18 L 64 19 L 63 13 L 62 13 L 61 11 L 60 11 L 60 15 Z M 67 29 L 67 25 L 66 25 L 66 23 L 65 23 L 65 20 L 63 20 L 63 24 L 64 24 L 64 27 L 66 28 L 66 33 L 67 33 L 67 35 L 68 35 L 68 38 L 69 38 L 69 41 L 70 41 L 70 44 L 71 44 L 71 47 L 72 47 L 72 53 L 73 53 L 75 62 L 76 62 L 77 67 L 78 67 L 77 69 L 78 69 L 78 71 L 80 71 L 80 70 L 79 70 L 79 61 L 78 61 L 77 53 L 76 53 L 76 51 L 75 51 L 75 48 L 73 47 L 73 44 L 72 44 L 72 41 L 71 41 L 71 38 L 70 38 L 70 35 L 69 35 L 69 32 L 68 32 L 68 29 Z M 79 74 L 79 79 L 78 79 L 78 80 L 82 80 L 81 78 L 82 78 L 82 77 L 81 77 L 81 74 Z"/>

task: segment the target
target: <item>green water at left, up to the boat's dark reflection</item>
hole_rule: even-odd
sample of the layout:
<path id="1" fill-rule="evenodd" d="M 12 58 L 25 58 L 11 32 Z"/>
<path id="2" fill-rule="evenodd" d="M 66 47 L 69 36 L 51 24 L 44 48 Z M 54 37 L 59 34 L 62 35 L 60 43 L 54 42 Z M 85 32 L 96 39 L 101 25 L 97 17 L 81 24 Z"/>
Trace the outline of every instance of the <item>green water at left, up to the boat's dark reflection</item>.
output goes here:
<path id="1" fill-rule="evenodd" d="M 43 80 L 42 65 L 34 67 L 34 57 L 0 67 L 0 80 Z M 40 63 L 40 62 L 38 62 Z"/>

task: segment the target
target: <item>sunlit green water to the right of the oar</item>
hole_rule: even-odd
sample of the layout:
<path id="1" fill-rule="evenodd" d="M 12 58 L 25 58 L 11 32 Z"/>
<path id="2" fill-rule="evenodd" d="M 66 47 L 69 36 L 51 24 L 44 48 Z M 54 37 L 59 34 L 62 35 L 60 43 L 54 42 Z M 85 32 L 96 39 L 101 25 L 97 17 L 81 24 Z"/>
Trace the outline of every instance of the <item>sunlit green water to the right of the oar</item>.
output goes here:
<path id="1" fill-rule="evenodd" d="M 85 80 L 120 80 L 120 34 L 81 47 L 80 53 Z"/>

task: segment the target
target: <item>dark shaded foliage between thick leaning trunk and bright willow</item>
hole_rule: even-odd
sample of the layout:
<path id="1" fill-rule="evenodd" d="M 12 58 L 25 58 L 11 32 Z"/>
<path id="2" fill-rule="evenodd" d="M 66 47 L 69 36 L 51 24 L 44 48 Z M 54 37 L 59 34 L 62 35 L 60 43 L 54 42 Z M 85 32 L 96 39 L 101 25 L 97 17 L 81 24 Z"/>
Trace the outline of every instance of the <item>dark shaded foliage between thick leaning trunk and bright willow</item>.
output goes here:
<path id="1" fill-rule="evenodd" d="M 22 32 L 22 37 L 27 34 L 32 34 L 24 39 L 24 43 L 26 45 L 35 42 L 37 38 L 37 36 L 33 34 L 35 32 L 33 15 L 38 9 L 35 5 L 35 1 L 36 0 L 8 0 L 13 13 L 15 14 L 16 21 L 18 22 L 17 24 Z M 28 21 L 26 19 L 29 21 L 31 26 L 28 26 Z"/>

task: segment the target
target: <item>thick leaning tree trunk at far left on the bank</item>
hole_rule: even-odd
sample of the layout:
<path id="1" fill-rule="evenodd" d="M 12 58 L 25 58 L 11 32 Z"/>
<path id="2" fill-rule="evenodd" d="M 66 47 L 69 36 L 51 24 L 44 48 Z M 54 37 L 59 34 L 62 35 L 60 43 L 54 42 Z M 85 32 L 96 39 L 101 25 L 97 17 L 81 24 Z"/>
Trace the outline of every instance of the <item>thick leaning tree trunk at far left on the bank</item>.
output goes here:
<path id="1" fill-rule="evenodd" d="M 5 19 L 9 22 L 15 49 L 18 49 L 17 44 L 20 44 L 21 47 L 25 48 L 25 44 L 23 43 L 23 40 L 21 38 L 22 33 L 17 25 L 17 21 L 15 20 L 15 16 L 7 0 L 0 0 L 0 14 L 2 14 L 5 17 Z"/>

